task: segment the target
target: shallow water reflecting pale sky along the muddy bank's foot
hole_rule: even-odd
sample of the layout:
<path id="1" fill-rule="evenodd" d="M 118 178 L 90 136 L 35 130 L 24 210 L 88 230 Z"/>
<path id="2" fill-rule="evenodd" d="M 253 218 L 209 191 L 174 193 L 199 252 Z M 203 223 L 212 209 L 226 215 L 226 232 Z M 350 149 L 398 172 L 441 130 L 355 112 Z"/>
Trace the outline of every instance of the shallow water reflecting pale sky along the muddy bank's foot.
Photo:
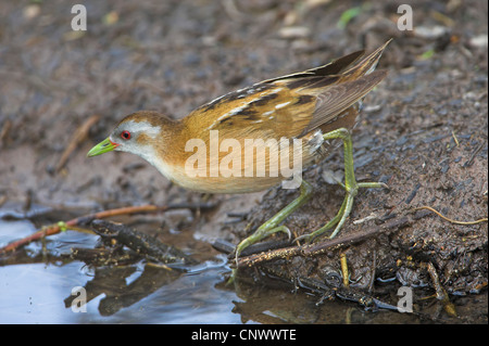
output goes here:
<path id="1" fill-rule="evenodd" d="M 30 221 L 0 220 L 0 245 L 35 231 Z M 229 268 L 217 255 L 189 272 L 134 266 L 90 269 L 60 259 L 71 247 L 93 247 L 98 236 L 67 231 L 40 242 L 26 256 L 0 267 L 0 323 L 423 323 L 418 316 L 371 312 L 356 304 L 326 300 L 290 287 L 225 284 Z M 85 287 L 86 312 L 75 312 L 74 287 Z M 485 303 L 486 302 L 486 303 Z M 74 306 L 74 309 L 72 308 Z M 464 303 L 484 312 L 487 294 Z M 440 310 L 439 308 L 437 308 Z M 462 322 L 438 312 L 442 322 Z M 426 320 L 425 320 L 426 322 Z M 429 321 L 428 321 L 429 322 Z M 432 321 L 431 321 L 432 322 Z"/>

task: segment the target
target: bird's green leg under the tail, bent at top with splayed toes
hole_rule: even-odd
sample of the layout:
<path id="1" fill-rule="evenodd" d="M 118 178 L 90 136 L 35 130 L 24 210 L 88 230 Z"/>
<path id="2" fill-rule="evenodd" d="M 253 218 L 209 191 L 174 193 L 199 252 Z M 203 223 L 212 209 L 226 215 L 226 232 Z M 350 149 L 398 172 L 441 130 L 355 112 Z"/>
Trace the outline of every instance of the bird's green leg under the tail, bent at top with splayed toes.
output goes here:
<path id="1" fill-rule="evenodd" d="M 310 234 L 299 236 L 297 240 L 306 240 L 311 242 L 336 225 L 335 230 L 329 235 L 330 239 L 335 238 L 351 213 L 351 209 L 353 207 L 353 200 L 359 192 L 359 188 L 387 188 L 387 185 L 383 182 L 356 182 L 353 165 L 353 144 L 351 142 L 351 136 L 348 129 L 340 128 L 334 130 L 324 134 L 323 138 L 325 140 L 341 139 L 343 141 L 344 185 L 342 187 L 346 190 L 347 195 L 344 196 L 343 203 L 341 204 L 338 214 L 328 223 Z"/>

